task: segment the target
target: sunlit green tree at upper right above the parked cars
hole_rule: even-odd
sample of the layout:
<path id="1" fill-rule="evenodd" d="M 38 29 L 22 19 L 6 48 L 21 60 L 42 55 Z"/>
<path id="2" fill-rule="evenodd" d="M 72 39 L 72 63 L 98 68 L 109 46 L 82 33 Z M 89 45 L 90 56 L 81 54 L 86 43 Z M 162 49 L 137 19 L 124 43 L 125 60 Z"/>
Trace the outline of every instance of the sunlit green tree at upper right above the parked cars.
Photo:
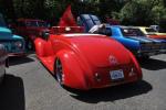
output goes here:
<path id="1" fill-rule="evenodd" d="M 149 25 L 158 24 L 164 15 L 164 0 L 131 0 L 120 12 L 123 24 Z"/>

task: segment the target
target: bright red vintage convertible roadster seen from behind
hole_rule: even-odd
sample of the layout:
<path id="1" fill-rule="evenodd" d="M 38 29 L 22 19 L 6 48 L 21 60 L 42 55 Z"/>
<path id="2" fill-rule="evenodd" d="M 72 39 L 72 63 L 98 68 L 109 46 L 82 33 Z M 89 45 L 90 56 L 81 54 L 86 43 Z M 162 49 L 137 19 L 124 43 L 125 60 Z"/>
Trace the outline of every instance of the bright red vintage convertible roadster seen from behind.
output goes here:
<path id="1" fill-rule="evenodd" d="M 137 61 L 122 44 L 82 32 L 80 26 L 60 25 L 34 41 L 38 58 L 60 85 L 89 90 L 142 79 Z"/>

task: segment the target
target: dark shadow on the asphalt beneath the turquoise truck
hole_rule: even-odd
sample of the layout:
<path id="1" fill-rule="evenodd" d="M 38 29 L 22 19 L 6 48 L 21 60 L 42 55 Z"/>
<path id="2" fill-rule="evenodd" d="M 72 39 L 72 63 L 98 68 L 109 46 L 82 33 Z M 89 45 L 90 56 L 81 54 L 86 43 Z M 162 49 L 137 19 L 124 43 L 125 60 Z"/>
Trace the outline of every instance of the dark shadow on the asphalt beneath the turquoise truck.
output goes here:
<path id="1" fill-rule="evenodd" d="M 9 66 L 30 63 L 30 62 L 34 62 L 34 59 L 27 57 L 27 56 L 9 57 Z"/>

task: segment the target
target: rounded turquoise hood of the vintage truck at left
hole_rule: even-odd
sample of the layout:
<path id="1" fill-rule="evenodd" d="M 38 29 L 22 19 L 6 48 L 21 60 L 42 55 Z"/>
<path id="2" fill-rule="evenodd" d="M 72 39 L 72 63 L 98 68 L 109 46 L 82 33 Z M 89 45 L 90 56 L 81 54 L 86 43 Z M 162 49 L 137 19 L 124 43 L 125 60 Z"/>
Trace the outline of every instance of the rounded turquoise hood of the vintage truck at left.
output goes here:
<path id="1" fill-rule="evenodd" d="M 22 38 L 22 37 L 13 35 L 11 30 L 7 28 L 0 28 L 0 40 L 13 40 L 13 38 Z"/>

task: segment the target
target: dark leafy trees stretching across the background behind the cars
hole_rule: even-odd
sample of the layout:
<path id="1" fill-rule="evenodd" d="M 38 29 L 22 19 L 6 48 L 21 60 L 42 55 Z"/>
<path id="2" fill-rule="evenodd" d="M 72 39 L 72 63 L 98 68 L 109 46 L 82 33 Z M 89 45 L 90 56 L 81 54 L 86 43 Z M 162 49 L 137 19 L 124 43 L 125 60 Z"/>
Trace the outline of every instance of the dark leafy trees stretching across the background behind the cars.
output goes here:
<path id="1" fill-rule="evenodd" d="M 75 16 L 93 13 L 128 25 L 159 24 L 166 20 L 166 0 L 0 0 L 0 11 L 13 21 L 32 18 L 54 24 L 69 4 Z"/>

